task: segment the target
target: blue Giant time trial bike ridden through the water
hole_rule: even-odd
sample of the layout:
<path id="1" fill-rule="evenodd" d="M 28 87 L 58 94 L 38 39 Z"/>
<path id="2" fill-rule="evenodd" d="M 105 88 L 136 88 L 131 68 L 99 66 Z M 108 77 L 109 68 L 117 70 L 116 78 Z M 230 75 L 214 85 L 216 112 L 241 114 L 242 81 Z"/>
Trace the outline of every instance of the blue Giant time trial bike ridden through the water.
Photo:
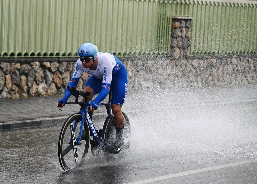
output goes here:
<path id="1" fill-rule="evenodd" d="M 88 101 L 90 92 L 79 91 L 74 87 L 69 88 L 69 86 L 67 88 L 71 92 L 71 95 L 75 96 L 75 102 L 68 102 L 66 104 L 78 104 L 80 105 L 80 111 L 68 117 L 60 132 L 58 157 L 64 171 L 82 164 L 89 153 L 89 149 L 91 149 L 92 155 L 96 156 L 100 154 L 103 156 L 112 154 L 108 149 L 108 144 L 112 144 L 116 139 L 116 129 L 113 125 L 113 114 L 110 103 L 111 92 L 108 103 L 99 103 L 99 106 L 106 107 L 107 117 L 103 123 L 103 129 L 97 130 L 90 114 L 87 112 L 90 105 Z M 79 96 L 84 97 L 85 101 L 78 101 Z M 60 106 L 61 104 L 59 103 Z M 122 150 L 124 151 L 129 148 L 130 144 L 130 124 L 127 114 L 124 111 L 122 111 L 122 114 L 125 118 L 122 137 L 124 142 Z"/>

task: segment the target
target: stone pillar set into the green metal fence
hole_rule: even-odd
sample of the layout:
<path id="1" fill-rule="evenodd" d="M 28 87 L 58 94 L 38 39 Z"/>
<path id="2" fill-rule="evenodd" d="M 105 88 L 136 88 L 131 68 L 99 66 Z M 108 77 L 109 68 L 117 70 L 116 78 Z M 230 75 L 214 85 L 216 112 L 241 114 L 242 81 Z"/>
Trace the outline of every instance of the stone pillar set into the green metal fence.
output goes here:
<path id="1" fill-rule="evenodd" d="M 189 55 L 192 17 L 172 17 L 170 56 L 185 58 Z"/>

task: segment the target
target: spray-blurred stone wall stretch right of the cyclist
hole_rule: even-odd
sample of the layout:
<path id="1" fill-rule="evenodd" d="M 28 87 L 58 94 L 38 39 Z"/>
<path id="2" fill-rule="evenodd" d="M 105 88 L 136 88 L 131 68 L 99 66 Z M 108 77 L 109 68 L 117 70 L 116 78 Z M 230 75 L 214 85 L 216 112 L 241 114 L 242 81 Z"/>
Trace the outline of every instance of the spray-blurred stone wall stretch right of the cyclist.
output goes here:
<path id="1" fill-rule="evenodd" d="M 135 90 L 257 83 L 257 57 L 127 61 Z"/>

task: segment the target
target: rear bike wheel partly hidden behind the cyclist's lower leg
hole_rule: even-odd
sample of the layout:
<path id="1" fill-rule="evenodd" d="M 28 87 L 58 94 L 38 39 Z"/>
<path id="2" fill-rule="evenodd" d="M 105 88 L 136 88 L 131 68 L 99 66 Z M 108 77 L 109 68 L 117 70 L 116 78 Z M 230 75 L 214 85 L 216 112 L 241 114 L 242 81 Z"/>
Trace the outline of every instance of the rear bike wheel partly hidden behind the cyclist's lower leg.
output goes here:
<path id="1" fill-rule="evenodd" d="M 124 122 L 124 129 L 123 129 L 123 135 L 122 139 L 124 142 L 124 145 L 122 147 L 122 151 L 127 151 L 130 145 L 130 124 L 128 115 L 122 111 L 122 114 L 125 118 Z M 103 127 L 103 139 L 107 142 L 112 142 L 113 140 L 116 140 L 116 129 L 113 124 L 113 117 L 109 116 L 106 125 Z M 104 155 L 108 155 L 109 153 L 107 151 L 104 151 Z"/>

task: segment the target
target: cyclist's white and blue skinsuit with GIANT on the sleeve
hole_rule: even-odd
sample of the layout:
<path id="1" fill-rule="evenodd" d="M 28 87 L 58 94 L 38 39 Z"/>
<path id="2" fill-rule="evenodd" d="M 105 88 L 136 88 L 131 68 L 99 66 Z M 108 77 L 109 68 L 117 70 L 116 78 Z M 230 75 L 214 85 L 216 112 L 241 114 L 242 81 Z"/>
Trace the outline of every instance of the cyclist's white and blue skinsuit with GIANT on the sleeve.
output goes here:
<path id="1" fill-rule="evenodd" d="M 111 103 L 122 106 L 126 98 L 128 83 L 125 66 L 115 55 L 108 52 L 98 52 L 97 58 L 98 66 L 96 70 L 84 68 L 82 62 L 78 59 L 75 64 L 75 71 L 72 75 L 71 82 L 68 86 L 76 87 L 82 73 L 87 72 L 92 76 L 87 80 L 85 87 L 91 87 L 94 90 L 94 94 L 99 93 L 94 101 L 99 103 L 104 100 L 111 88 L 113 97 Z M 69 98 L 70 96 L 70 92 L 66 89 L 64 98 Z"/>

